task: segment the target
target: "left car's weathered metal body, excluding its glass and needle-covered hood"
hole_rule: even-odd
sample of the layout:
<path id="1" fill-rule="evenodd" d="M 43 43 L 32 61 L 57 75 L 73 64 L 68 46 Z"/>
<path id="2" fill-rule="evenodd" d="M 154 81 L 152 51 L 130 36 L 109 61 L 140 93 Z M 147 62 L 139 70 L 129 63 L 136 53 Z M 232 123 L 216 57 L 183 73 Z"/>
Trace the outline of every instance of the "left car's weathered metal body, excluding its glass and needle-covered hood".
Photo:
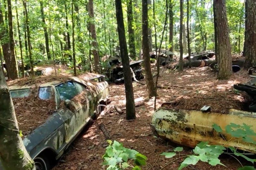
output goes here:
<path id="1" fill-rule="evenodd" d="M 56 111 L 42 124 L 33 130 L 32 133 L 23 138 L 23 143 L 32 159 L 35 159 L 45 150 L 55 153 L 55 159 L 59 159 L 72 141 L 79 135 L 86 124 L 95 117 L 97 106 L 106 103 L 109 96 L 109 86 L 104 76 L 99 76 L 102 82 L 93 82 L 95 76 L 82 80 L 77 77 L 69 77 L 70 81 L 78 82 L 89 89 L 86 89 L 84 105 L 75 100 L 71 100 L 71 105 L 75 111 L 68 108 L 57 107 Z M 92 83 L 93 82 L 93 83 Z M 40 87 L 51 87 L 52 92 L 58 94 L 57 85 L 63 81 L 53 81 L 41 84 Z M 91 88 L 92 87 L 92 88 Z M 10 90 L 30 88 L 29 86 L 10 86 Z M 84 91 L 83 91 L 84 92 Z M 55 99 L 55 101 L 57 101 Z M 57 106 L 57 105 L 56 105 Z"/>

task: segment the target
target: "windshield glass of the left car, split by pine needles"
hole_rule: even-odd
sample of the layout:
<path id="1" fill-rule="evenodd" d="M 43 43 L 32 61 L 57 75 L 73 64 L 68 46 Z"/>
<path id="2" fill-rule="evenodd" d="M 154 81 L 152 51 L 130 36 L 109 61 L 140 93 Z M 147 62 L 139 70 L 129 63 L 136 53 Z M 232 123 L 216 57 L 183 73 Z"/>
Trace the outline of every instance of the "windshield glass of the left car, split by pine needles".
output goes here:
<path id="1" fill-rule="evenodd" d="M 31 89 L 19 89 L 11 90 L 12 98 L 25 98 L 31 94 Z M 52 98 L 51 87 L 40 87 L 38 90 L 38 97 L 42 100 L 48 100 Z"/>

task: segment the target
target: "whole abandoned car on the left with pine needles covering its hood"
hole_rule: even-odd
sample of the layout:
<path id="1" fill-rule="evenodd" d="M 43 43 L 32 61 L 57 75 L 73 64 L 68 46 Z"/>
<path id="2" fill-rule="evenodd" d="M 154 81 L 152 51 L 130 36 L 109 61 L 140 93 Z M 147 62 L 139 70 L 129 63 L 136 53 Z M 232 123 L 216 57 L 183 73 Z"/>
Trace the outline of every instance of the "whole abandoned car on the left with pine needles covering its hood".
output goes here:
<path id="1" fill-rule="evenodd" d="M 49 170 L 107 104 L 108 83 L 95 74 L 24 79 L 8 82 L 23 143 L 36 170 Z"/>

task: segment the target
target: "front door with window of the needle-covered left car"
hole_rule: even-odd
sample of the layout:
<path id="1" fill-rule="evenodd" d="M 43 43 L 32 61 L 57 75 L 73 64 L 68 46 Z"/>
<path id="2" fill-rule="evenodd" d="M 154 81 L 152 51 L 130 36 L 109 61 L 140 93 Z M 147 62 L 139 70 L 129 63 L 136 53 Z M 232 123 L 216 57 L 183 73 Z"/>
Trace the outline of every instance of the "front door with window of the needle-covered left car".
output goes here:
<path id="1" fill-rule="evenodd" d="M 73 81 L 68 81 L 57 85 L 55 87 L 56 92 L 60 96 L 60 100 L 70 100 L 70 107 L 60 110 L 60 115 L 65 122 L 66 137 L 65 142 L 70 143 L 81 129 L 83 118 L 83 108 L 80 102 L 73 100 L 75 96 L 79 95 L 79 91 L 76 89 Z"/>

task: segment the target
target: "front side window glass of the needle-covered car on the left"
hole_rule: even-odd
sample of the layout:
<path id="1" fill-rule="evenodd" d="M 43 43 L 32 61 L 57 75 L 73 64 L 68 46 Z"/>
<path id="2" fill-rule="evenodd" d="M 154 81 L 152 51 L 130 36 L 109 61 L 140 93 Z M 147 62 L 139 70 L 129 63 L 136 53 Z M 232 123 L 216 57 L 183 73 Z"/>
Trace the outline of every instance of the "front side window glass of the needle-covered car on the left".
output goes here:
<path id="1" fill-rule="evenodd" d="M 56 89 L 60 93 L 61 100 L 71 100 L 78 94 L 73 81 L 68 81 L 66 83 L 60 84 L 56 87 Z"/>

